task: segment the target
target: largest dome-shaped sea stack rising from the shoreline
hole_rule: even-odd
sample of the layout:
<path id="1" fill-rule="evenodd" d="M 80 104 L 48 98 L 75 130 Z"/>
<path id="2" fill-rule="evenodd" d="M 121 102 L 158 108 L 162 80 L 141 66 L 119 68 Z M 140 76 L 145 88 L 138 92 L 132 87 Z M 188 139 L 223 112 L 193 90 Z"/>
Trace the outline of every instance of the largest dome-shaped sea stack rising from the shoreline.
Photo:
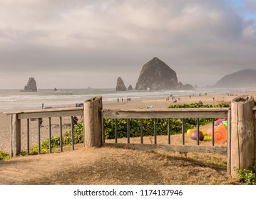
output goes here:
<path id="1" fill-rule="evenodd" d="M 172 90 L 178 86 L 176 72 L 158 58 L 143 65 L 135 90 Z"/>

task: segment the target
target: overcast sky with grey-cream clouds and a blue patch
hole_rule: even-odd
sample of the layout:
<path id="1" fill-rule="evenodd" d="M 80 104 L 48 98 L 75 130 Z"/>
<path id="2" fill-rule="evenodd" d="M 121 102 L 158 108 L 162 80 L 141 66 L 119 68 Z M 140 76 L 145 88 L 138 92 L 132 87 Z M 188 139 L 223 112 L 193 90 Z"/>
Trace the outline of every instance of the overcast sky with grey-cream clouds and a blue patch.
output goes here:
<path id="1" fill-rule="evenodd" d="M 0 0 L 0 89 L 135 87 L 160 58 L 191 85 L 256 69 L 255 0 Z"/>

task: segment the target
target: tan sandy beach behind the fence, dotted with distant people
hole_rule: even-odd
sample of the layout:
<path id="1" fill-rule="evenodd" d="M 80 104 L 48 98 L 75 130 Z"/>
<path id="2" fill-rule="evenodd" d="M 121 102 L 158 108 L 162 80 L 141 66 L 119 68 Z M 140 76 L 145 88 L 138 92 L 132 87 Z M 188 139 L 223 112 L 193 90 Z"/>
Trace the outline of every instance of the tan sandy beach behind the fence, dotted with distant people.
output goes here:
<path id="1" fill-rule="evenodd" d="M 116 100 L 115 102 L 103 102 L 104 109 L 144 109 L 144 108 L 153 108 L 153 109 L 163 109 L 170 106 L 170 104 L 190 104 L 195 102 L 203 102 L 203 104 L 220 104 L 222 102 L 231 102 L 237 96 L 240 95 L 252 95 L 256 97 L 256 90 L 248 90 L 245 92 L 240 92 L 232 95 L 208 95 L 206 93 L 198 96 L 188 96 L 188 97 L 175 97 L 169 99 L 165 97 L 160 98 L 150 98 L 150 99 L 131 99 L 127 102 L 126 99 L 123 102 Z M 176 101 L 176 102 L 174 102 Z M 78 119 L 81 120 L 80 117 Z M 70 117 L 63 117 L 63 132 L 66 129 L 70 128 L 71 119 Z M 59 135 L 59 120 L 58 118 L 52 118 L 52 136 Z M 30 124 L 31 137 L 30 142 L 31 146 L 37 143 L 38 139 L 38 122 L 32 121 Z M 11 129 L 11 119 L 7 114 L 0 113 L 0 151 L 10 151 L 11 141 L 10 141 L 10 129 Z M 22 149 L 26 149 L 26 120 L 21 120 L 21 144 Z M 41 127 L 41 141 L 48 138 L 48 119 L 43 119 L 43 127 Z"/>

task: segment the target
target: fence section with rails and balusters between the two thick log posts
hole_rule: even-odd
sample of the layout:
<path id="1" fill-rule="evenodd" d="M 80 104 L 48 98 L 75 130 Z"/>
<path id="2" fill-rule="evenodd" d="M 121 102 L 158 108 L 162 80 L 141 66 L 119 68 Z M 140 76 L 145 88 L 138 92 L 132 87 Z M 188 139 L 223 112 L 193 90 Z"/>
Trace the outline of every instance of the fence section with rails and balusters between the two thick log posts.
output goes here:
<path id="1" fill-rule="evenodd" d="M 115 143 L 105 143 L 106 146 L 118 146 L 129 149 L 164 149 L 165 151 L 183 151 L 183 152 L 199 152 L 199 153 L 218 153 L 227 154 L 227 146 L 214 146 L 214 119 L 227 118 L 228 129 L 227 137 L 230 137 L 230 108 L 184 108 L 184 109 L 103 109 L 103 136 L 104 136 L 104 119 L 115 119 Z M 184 119 L 195 118 L 197 119 L 197 144 L 198 146 L 185 146 L 185 128 Z M 212 119 L 213 125 L 213 146 L 199 146 L 199 119 L 208 118 Z M 117 143 L 117 120 L 127 119 L 127 144 Z M 130 119 L 140 119 L 140 144 L 130 144 Z M 143 144 L 143 119 L 153 119 L 153 137 L 152 144 Z M 168 119 L 168 144 L 157 144 L 157 128 L 156 119 Z M 182 119 L 182 145 L 170 144 L 170 119 Z M 103 139 L 104 140 L 104 139 Z M 228 139 L 227 139 L 228 140 Z M 105 141 L 105 140 L 104 140 Z M 228 145 L 228 144 L 227 144 Z"/>

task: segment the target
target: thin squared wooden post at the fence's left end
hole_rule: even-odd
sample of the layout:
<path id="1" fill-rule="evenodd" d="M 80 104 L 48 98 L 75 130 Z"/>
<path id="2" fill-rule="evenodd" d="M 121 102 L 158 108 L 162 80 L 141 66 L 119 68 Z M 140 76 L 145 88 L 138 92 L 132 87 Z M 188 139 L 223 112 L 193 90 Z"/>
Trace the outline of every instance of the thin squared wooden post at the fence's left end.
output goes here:
<path id="1" fill-rule="evenodd" d="M 11 156 L 21 153 L 21 120 L 18 114 L 11 114 Z"/>

